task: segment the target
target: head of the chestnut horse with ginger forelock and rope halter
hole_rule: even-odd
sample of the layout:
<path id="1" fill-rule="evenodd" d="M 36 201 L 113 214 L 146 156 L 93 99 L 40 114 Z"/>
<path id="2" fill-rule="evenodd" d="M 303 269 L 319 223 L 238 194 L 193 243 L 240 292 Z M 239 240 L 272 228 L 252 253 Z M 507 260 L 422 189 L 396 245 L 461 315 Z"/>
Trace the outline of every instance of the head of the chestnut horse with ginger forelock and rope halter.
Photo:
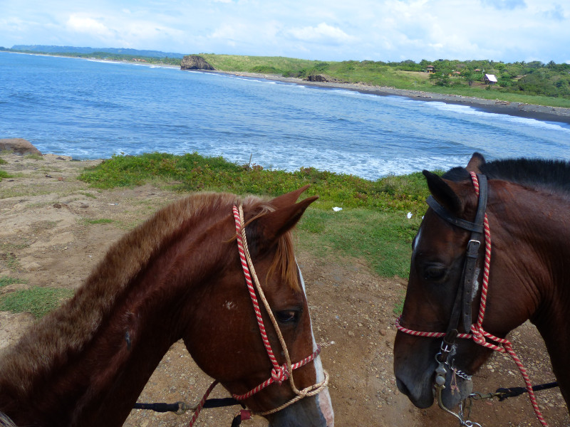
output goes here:
<path id="1" fill-rule="evenodd" d="M 212 236 L 223 236 L 214 258 L 224 262 L 214 280 L 202 289 L 201 295 L 196 295 L 207 304 L 192 312 L 184 334 L 185 344 L 199 367 L 253 411 L 264 414 L 271 426 L 333 426 L 331 400 L 324 384 L 326 374 L 318 357 L 290 233 L 307 206 L 317 199 L 310 197 L 296 203 L 304 189 L 271 201 L 245 199 L 241 220 L 237 214 L 234 218 L 230 208 L 224 220 L 212 228 Z M 238 251 L 241 233 L 235 238 L 236 228 L 242 227 L 246 231 L 245 252 L 251 257 L 249 270 L 259 278 L 272 316 L 264 307 L 263 297 L 254 290 L 255 284 L 249 288 L 244 279 L 246 253 L 240 258 Z M 258 314 L 252 290 L 259 301 Z M 262 339 L 257 315 L 263 319 L 267 342 Z M 278 326 L 282 341 L 272 322 Z M 286 354 L 294 367 L 314 355 L 292 371 L 293 384 L 287 378 Z M 269 385 L 260 386 L 268 380 Z M 321 388 L 315 393 L 275 413 L 267 413 L 319 383 Z M 304 391 L 306 388 L 309 389 Z"/>

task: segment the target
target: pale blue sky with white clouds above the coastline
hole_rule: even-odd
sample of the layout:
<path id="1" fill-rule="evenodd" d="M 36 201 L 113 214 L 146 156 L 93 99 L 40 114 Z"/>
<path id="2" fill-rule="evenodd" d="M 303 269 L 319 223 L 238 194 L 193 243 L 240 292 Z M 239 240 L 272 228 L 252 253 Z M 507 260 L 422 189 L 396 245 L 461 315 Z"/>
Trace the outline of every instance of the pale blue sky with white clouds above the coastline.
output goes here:
<path id="1" fill-rule="evenodd" d="M 570 63 L 570 0 L 0 0 L 0 46 Z"/>

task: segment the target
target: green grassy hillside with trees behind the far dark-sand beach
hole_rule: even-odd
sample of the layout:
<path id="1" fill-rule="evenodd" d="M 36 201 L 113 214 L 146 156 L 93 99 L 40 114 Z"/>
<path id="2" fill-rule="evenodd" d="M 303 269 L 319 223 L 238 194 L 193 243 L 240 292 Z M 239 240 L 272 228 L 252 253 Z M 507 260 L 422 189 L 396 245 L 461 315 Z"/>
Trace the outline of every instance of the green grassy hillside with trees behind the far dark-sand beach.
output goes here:
<path id="1" fill-rule="evenodd" d="M 201 53 L 214 68 L 223 71 L 274 73 L 308 78 L 327 75 L 346 83 L 387 86 L 463 96 L 500 98 L 554 107 L 570 107 L 570 64 L 502 63 L 492 60 L 413 60 L 383 62 L 346 60 L 322 62 L 281 57 L 232 56 Z M 496 85 L 484 83 L 485 74 L 497 77 Z"/>

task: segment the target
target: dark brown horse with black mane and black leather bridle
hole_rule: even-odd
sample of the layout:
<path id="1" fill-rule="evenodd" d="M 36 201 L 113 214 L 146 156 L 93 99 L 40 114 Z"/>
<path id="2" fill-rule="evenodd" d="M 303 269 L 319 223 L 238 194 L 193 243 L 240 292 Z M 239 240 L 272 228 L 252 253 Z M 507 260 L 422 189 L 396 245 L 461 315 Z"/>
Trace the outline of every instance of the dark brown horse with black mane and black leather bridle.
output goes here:
<path id="1" fill-rule="evenodd" d="M 426 408 L 435 387 L 444 408 L 456 406 L 530 319 L 570 406 L 570 164 L 475 153 L 466 169 L 423 174 L 432 197 L 395 337 L 398 389 Z"/>

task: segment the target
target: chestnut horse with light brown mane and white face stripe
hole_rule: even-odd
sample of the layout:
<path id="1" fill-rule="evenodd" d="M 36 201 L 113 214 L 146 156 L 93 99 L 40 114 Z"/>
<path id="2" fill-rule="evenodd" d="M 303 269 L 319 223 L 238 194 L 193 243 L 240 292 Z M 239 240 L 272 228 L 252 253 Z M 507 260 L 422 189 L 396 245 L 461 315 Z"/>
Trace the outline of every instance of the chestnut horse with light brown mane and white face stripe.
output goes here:
<path id="1" fill-rule="evenodd" d="M 19 426 L 120 426 L 178 339 L 249 408 L 270 412 L 299 397 L 286 381 L 287 352 L 272 315 L 291 362 L 313 355 L 292 374 L 294 385 L 318 383 L 321 393 L 266 418 L 271 426 L 333 426 L 291 243 L 291 228 L 316 199 L 296 203 L 304 189 L 270 201 L 195 194 L 123 236 L 69 302 L 1 355 L 0 420 L 3 412 Z M 243 223 L 232 214 L 240 205 Z M 281 371 L 268 357 L 244 280 L 242 227 L 271 310 L 261 307 L 259 317 Z M 268 378 L 273 384 L 250 392 Z"/>

